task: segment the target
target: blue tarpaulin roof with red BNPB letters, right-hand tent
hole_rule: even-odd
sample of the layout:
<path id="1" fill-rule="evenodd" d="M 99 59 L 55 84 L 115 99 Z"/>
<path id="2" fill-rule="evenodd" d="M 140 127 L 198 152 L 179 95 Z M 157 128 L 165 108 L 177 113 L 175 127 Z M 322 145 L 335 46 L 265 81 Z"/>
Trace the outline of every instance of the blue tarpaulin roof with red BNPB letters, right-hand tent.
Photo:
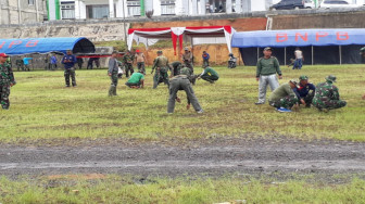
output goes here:
<path id="1" fill-rule="evenodd" d="M 234 48 L 306 47 L 365 44 L 365 29 L 293 29 L 240 31 L 232 37 Z"/>

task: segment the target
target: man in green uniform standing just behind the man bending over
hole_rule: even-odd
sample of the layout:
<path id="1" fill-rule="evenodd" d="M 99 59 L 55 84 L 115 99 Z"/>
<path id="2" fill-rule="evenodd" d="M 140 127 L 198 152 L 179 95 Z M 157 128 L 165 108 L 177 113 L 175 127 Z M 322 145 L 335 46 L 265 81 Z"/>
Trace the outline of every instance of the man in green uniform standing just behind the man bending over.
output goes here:
<path id="1" fill-rule="evenodd" d="M 153 74 L 154 69 L 156 69 L 156 72 L 153 76 L 153 89 L 158 88 L 160 82 L 164 82 L 168 88 L 169 82 L 167 72 L 169 69 L 169 64 L 167 58 L 162 55 L 161 50 L 158 51 L 158 58 L 153 61 L 151 74 Z"/>

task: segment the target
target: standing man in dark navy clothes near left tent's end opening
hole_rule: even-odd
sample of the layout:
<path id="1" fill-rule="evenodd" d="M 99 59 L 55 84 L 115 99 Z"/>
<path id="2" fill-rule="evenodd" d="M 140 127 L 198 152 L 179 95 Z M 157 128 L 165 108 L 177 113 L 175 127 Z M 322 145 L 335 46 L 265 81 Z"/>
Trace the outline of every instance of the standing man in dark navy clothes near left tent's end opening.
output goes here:
<path id="1" fill-rule="evenodd" d="M 76 87 L 76 76 L 75 76 L 75 64 L 77 63 L 76 56 L 72 54 L 71 50 L 67 50 L 66 55 L 62 58 L 61 63 L 64 65 L 64 77 L 66 87 L 70 87 L 70 77 L 72 80 L 72 86 Z"/>

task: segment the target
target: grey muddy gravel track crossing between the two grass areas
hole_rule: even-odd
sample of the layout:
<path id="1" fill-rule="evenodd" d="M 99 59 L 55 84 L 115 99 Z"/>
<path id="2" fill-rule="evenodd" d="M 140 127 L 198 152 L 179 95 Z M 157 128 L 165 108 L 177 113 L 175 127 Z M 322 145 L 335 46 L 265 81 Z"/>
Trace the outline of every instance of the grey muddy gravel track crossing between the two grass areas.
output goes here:
<path id="1" fill-rule="evenodd" d="M 365 143 L 269 137 L 188 141 L 100 139 L 0 144 L 1 175 L 96 173 L 172 177 L 292 173 L 356 175 L 365 173 Z"/>

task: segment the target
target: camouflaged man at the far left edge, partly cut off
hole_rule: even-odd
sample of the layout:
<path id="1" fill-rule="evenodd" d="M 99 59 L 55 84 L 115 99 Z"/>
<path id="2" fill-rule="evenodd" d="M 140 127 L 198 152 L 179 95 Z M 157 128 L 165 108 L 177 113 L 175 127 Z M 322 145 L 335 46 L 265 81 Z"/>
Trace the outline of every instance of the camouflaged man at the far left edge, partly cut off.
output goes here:
<path id="1" fill-rule="evenodd" d="M 9 110 L 10 88 L 16 85 L 13 69 L 7 63 L 8 58 L 5 53 L 0 53 L 0 104 L 3 110 Z"/>

